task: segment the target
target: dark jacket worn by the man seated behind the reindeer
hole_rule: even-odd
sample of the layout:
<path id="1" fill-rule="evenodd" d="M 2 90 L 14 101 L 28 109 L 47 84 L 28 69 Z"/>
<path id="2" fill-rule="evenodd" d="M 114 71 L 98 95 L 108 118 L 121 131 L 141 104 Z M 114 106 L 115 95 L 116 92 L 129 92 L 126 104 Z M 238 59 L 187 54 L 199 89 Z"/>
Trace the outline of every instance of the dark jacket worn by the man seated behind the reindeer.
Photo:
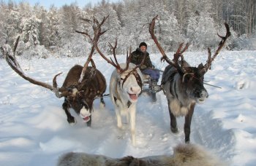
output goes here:
<path id="1" fill-rule="evenodd" d="M 140 65 L 140 63 L 143 60 L 144 53 L 142 51 L 140 51 L 140 48 L 138 48 L 134 52 L 132 52 L 131 56 L 132 57 L 131 57 L 130 63 L 134 63 L 135 65 Z M 146 52 L 146 57 L 145 57 L 144 63 L 142 66 L 140 66 L 140 69 L 143 70 L 143 69 L 152 68 L 152 67 L 153 66 L 152 66 L 151 60 L 149 58 L 149 54 L 148 54 L 148 52 Z"/>

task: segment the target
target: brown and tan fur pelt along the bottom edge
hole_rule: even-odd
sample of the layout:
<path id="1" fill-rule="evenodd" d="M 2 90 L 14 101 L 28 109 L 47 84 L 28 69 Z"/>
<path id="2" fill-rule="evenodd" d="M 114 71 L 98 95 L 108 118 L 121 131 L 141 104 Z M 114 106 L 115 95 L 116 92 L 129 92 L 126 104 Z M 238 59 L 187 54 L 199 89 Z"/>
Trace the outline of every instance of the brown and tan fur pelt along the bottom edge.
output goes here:
<path id="1" fill-rule="evenodd" d="M 224 165 L 212 156 L 202 147 L 192 144 L 181 144 L 176 146 L 172 156 L 161 155 L 143 158 L 123 157 L 121 159 L 113 159 L 96 154 L 69 152 L 63 154 L 58 162 L 58 166 L 213 166 Z"/>

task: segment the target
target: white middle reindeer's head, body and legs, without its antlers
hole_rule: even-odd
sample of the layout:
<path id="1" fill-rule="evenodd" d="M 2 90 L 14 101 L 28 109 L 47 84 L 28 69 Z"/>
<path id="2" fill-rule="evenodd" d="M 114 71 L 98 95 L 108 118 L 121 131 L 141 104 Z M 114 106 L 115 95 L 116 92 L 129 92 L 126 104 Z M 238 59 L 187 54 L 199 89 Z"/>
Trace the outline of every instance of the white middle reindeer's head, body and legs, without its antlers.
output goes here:
<path id="1" fill-rule="evenodd" d="M 120 65 L 121 68 L 125 64 Z M 136 145 L 135 138 L 135 121 L 136 121 L 136 103 L 138 95 L 142 87 L 142 73 L 135 64 L 129 63 L 127 71 L 120 72 L 115 69 L 110 79 L 110 98 L 115 106 L 117 126 L 122 128 L 122 116 L 127 117 L 127 122 L 130 124 L 132 135 L 132 145 Z"/>

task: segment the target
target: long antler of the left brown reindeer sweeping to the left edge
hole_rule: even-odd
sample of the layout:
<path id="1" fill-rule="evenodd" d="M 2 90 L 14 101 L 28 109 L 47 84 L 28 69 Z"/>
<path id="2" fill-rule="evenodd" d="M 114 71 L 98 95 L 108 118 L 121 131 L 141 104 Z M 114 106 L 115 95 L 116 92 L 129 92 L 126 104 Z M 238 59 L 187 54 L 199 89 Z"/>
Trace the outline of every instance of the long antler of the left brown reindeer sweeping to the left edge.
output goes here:
<path id="1" fill-rule="evenodd" d="M 13 48 L 13 55 L 10 55 L 9 52 L 5 51 L 3 47 L 1 47 L 1 52 L 3 52 L 3 55 L 5 56 L 5 59 L 7 60 L 8 65 L 14 70 L 17 74 L 19 74 L 23 79 L 26 79 L 27 81 L 31 82 L 32 84 L 37 84 L 41 87 L 45 87 L 53 92 L 55 92 L 56 96 L 59 96 L 59 92 L 62 92 L 61 95 L 64 96 L 66 92 L 64 90 L 57 90 L 52 85 L 46 84 L 45 82 L 37 81 L 36 79 L 32 79 L 31 77 L 24 74 L 22 68 L 20 68 L 20 64 L 18 63 L 18 60 L 15 58 L 15 51 L 18 46 L 20 36 L 16 39 L 14 48 Z M 62 97 L 61 96 L 61 97 Z"/>

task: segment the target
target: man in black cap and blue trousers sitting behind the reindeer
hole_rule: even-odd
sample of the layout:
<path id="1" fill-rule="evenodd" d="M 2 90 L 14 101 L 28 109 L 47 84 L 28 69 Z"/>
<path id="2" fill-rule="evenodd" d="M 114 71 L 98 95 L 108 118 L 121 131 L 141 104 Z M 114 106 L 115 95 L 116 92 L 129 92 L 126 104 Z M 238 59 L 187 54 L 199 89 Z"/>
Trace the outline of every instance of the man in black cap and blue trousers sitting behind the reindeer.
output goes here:
<path id="1" fill-rule="evenodd" d="M 146 52 L 146 50 L 147 44 L 145 42 L 141 42 L 139 48 L 132 52 L 130 63 L 139 65 L 143 60 L 144 54 L 146 54 L 144 63 L 140 66 L 140 70 L 143 74 L 148 74 L 151 77 L 151 89 L 154 90 L 154 92 L 159 92 L 161 88 L 159 85 L 157 85 L 157 82 L 159 80 L 160 74 L 158 70 L 154 69 L 154 66 L 152 65 L 149 58 L 149 54 Z"/>

